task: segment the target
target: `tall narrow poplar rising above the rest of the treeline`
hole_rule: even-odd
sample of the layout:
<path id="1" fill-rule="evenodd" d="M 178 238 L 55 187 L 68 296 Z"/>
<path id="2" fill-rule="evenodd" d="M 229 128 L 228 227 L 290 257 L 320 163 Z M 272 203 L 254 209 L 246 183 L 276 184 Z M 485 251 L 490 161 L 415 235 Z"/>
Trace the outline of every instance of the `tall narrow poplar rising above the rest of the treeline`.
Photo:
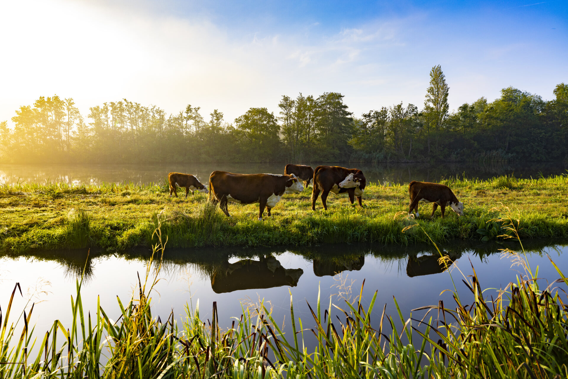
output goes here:
<path id="1" fill-rule="evenodd" d="M 436 150 L 438 149 L 438 134 L 448 116 L 448 92 L 446 77 L 440 65 L 433 66 L 430 70 L 430 86 L 426 90 L 426 100 L 424 101 L 424 112 L 427 114 L 428 125 L 428 154 L 430 153 L 431 127 L 436 130 Z"/>

